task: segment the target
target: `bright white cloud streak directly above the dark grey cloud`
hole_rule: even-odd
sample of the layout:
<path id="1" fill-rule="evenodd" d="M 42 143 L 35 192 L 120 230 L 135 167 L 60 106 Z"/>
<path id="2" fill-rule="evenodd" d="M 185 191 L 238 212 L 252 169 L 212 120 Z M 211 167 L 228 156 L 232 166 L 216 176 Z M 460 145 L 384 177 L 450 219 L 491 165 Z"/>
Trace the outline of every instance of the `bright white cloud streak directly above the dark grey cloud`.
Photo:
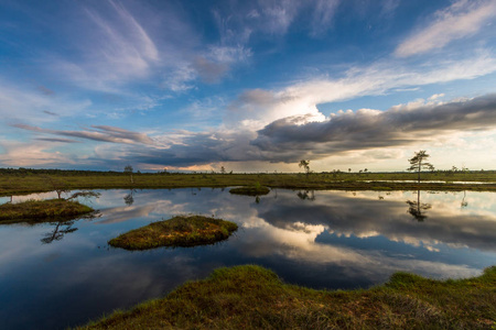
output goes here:
<path id="1" fill-rule="evenodd" d="M 280 90 L 246 90 L 228 106 L 225 121 L 228 125 L 241 124 L 252 130 L 287 117 L 322 121 L 320 103 L 384 95 L 398 88 L 472 79 L 493 72 L 496 72 L 496 59 L 484 52 L 459 62 L 441 61 L 411 68 L 391 61 L 379 62 L 369 67 L 353 67 L 342 77 L 312 78 Z"/>

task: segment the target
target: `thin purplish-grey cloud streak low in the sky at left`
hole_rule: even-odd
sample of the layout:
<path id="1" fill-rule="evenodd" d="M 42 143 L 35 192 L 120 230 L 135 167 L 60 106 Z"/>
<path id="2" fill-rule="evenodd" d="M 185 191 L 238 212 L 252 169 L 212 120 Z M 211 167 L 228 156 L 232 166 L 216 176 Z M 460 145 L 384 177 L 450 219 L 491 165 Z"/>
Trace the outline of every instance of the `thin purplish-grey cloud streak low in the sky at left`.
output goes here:
<path id="1" fill-rule="evenodd" d="M 37 127 L 32 127 L 28 124 L 14 124 L 14 128 L 28 130 L 37 133 L 62 135 L 62 136 L 73 136 L 80 138 L 85 140 L 111 142 L 111 143 L 142 143 L 151 144 L 151 140 L 147 134 L 132 132 L 115 127 L 107 125 L 93 125 L 93 129 L 86 129 L 84 131 L 60 131 L 60 130 L 48 130 Z"/>

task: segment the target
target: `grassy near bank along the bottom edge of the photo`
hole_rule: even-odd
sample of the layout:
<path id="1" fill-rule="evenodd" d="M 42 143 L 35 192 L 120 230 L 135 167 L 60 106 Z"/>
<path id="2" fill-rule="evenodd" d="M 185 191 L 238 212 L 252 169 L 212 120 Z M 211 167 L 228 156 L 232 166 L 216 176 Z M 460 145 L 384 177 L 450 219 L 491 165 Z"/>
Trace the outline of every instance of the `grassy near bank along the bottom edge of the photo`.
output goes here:
<path id="1" fill-rule="evenodd" d="M 79 329 L 494 329 L 496 267 L 433 280 L 397 273 L 368 290 L 325 292 L 282 283 L 259 266 L 219 268 L 162 299 Z"/>

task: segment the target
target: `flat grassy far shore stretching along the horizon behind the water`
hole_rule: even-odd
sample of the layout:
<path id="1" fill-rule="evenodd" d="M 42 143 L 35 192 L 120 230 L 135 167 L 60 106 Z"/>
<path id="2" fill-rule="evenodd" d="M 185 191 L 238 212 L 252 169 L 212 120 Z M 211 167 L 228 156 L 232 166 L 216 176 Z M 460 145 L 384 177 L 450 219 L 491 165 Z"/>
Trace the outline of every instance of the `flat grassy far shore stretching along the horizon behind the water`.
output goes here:
<path id="1" fill-rule="evenodd" d="M 336 190 L 476 190 L 496 191 L 496 170 L 468 173 L 424 173 L 420 184 L 395 183 L 414 180 L 412 173 L 315 173 L 304 174 L 133 174 L 98 172 L 12 172 L 0 170 L 0 196 L 55 190 L 54 182 L 64 189 L 154 189 L 154 188 L 223 188 L 255 186 L 285 189 Z M 441 183 L 425 183 L 440 180 Z M 483 182 L 486 184 L 454 184 Z"/>

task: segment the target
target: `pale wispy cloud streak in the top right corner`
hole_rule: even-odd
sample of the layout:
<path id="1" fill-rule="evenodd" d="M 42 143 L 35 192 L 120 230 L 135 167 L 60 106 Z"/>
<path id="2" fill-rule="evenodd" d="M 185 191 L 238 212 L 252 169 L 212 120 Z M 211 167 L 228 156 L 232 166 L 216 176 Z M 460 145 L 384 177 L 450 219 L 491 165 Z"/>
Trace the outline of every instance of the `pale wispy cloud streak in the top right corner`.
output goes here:
<path id="1" fill-rule="evenodd" d="M 403 41 L 395 51 L 399 57 L 442 48 L 452 41 L 477 33 L 496 16 L 493 0 L 459 0 L 433 14 L 432 22 Z"/>

